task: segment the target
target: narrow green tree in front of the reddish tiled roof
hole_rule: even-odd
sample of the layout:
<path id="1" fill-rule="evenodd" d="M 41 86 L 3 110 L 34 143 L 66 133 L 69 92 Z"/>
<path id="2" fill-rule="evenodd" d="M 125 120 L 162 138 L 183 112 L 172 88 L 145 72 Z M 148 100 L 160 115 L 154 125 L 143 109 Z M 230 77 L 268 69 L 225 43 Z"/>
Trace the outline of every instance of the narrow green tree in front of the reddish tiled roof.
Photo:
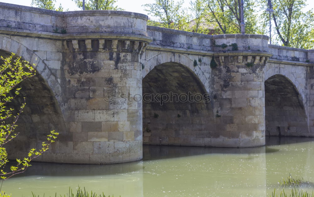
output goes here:
<path id="1" fill-rule="evenodd" d="M 189 31 L 196 32 L 196 33 L 202 33 L 207 34 L 208 29 L 205 29 L 200 26 L 201 23 L 205 23 L 206 21 L 206 14 L 207 14 L 207 5 L 204 0 L 194 0 L 190 2 L 190 8 L 189 10 L 192 13 L 191 18 L 192 21 L 195 23 Z M 192 22 L 190 21 L 190 23 Z"/>

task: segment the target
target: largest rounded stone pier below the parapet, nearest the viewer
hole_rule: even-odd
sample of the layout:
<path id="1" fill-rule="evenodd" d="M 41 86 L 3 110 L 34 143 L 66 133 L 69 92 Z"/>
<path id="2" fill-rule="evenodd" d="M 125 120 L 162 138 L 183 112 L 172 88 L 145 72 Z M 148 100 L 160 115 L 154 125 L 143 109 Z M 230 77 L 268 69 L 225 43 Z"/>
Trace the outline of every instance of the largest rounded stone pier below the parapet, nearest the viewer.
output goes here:
<path id="1" fill-rule="evenodd" d="M 142 104 L 132 99 L 142 91 L 138 58 L 145 43 L 106 39 L 66 45 L 71 150 L 85 153 L 80 158 L 85 162 L 141 159 Z"/>

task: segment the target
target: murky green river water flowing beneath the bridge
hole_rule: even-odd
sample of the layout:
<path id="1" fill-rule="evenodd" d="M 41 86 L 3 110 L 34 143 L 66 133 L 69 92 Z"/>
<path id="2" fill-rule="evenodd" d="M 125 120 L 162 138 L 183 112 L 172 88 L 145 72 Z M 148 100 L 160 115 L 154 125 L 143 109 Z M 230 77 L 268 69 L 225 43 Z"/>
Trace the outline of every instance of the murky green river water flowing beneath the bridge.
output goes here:
<path id="1" fill-rule="evenodd" d="M 289 173 L 314 182 L 313 138 L 268 137 L 255 148 L 143 146 L 142 161 L 102 166 L 34 162 L 2 190 L 13 197 L 66 194 L 78 185 L 121 197 L 269 196 Z"/>

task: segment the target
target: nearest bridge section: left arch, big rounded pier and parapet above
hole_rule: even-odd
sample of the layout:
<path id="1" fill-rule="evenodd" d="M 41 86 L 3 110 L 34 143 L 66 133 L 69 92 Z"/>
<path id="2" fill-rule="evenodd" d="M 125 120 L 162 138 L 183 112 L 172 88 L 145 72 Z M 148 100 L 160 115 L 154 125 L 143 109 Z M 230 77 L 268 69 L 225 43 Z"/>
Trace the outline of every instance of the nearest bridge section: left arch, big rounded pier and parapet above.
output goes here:
<path id="1" fill-rule="evenodd" d="M 141 159 L 142 103 L 132 99 L 135 92 L 142 92 L 138 61 L 150 42 L 147 16 L 119 11 L 61 13 L 6 3 L 0 9 L 16 15 L 0 21 L 0 49 L 38 64 L 41 79 L 34 78 L 36 93 L 27 81 L 22 84 L 30 102 L 20 120 L 22 132 L 12 146 L 13 151 L 24 152 L 12 158 L 24 157 L 27 147 L 39 148 L 36 144 L 45 139 L 42 132 L 55 128 L 60 135 L 41 161 Z M 12 31 L 15 35 L 7 34 Z M 51 88 L 50 94 L 45 88 Z M 108 96 L 114 102 L 105 102 Z M 53 107 L 58 110 L 50 112 Z"/>

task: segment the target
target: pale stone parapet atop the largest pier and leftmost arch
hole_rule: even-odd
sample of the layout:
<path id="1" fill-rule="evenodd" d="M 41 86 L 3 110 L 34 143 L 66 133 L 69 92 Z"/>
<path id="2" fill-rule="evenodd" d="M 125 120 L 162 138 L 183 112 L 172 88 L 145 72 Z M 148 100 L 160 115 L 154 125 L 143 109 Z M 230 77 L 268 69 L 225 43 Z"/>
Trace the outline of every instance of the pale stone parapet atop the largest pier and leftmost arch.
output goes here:
<path id="1" fill-rule="evenodd" d="M 1 33 L 53 39 L 119 38 L 144 40 L 148 17 L 112 10 L 58 12 L 0 3 Z"/>

